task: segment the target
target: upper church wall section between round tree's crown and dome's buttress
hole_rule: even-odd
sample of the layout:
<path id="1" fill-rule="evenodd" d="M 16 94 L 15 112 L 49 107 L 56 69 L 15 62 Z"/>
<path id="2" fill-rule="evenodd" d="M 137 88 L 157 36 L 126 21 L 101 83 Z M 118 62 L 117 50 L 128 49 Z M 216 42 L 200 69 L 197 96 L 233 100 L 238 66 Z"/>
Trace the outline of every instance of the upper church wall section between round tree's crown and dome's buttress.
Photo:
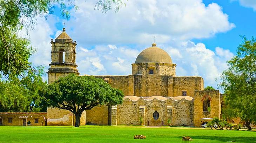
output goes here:
<path id="1" fill-rule="evenodd" d="M 117 88 L 123 91 L 124 96 L 128 95 L 128 76 L 94 76 L 96 78 L 101 78 L 101 79 L 105 79 L 105 78 L 109 78 L 109 84 L 113 87 L 113 88 Z"/>

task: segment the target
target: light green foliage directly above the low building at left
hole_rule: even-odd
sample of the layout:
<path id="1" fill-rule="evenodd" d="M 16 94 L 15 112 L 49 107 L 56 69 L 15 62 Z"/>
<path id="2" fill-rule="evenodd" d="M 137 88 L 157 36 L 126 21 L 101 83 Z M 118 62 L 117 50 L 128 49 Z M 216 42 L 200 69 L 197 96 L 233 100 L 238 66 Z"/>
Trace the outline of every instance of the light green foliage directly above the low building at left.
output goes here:
<path id="1" fill-rule="evenodd" d="M 21 80 L 0 80 L 0 112 L 42 112 L 47 107 L 45 98 L 39 95 L 47 83 L 41 78 L 43 69 L 38 71 L 24 73 Z"/>

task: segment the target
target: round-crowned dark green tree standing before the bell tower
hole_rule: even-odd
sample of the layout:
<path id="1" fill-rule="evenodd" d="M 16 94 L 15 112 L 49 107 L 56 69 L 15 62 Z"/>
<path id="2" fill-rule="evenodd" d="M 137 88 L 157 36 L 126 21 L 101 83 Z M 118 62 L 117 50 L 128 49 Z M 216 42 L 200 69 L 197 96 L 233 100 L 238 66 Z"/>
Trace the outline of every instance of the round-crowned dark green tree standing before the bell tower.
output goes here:
<path id="1" fill-rule="evenodd" d="M 97 105 L 122 103 L 123 93 L 93 76 L 70 74 L 60 77 L 46 88 L 48 104 L 75 114 L 75 127 L 79 127 L 81 114 Z"/>

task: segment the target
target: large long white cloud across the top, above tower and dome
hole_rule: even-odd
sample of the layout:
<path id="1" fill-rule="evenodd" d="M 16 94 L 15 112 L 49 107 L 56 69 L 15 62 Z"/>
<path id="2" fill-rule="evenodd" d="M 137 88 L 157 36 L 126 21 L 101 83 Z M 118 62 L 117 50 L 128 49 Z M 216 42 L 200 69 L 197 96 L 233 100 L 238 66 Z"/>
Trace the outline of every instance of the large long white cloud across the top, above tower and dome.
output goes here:
<path id="1" fill-rule="evenodd" d="M 67 31 L 81 44 L 149 44 L 208 38 L 234 28 L 217 3 L 202 0 L 128 1 L 118 13 L 94 10 L 92 1 L 78 2 Z M 86 33 L 86 34 L 85 34 Z"/>

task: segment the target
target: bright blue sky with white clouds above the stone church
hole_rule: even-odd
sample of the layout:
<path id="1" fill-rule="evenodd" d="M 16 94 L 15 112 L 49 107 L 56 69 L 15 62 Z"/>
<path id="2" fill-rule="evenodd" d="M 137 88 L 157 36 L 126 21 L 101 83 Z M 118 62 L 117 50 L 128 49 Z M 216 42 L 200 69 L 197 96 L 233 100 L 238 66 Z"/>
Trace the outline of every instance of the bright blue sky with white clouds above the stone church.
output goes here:
<path id="1" fill-rule="evenodd" d="M 95 1 L 75 1 L 69 20 L 58 8 L 47 20 L 38 17 L 31 31 L 30 59 L 49 68 L 50 39 L 55 39 L 65 22 L 66 32 L 78 43 L 80 75 L 129 75 L 131 63 L 156 37 L 157 46 L 177 64 L 177 76 L 202 76 L 205 86 L 214 86 L 227 68 L 245 35 L 256 34 L 254 0 L 129 0 L 118 13 L 103 15 L 94 10 Z M 47 74 L 45 76 L 47 80 Z"/>

